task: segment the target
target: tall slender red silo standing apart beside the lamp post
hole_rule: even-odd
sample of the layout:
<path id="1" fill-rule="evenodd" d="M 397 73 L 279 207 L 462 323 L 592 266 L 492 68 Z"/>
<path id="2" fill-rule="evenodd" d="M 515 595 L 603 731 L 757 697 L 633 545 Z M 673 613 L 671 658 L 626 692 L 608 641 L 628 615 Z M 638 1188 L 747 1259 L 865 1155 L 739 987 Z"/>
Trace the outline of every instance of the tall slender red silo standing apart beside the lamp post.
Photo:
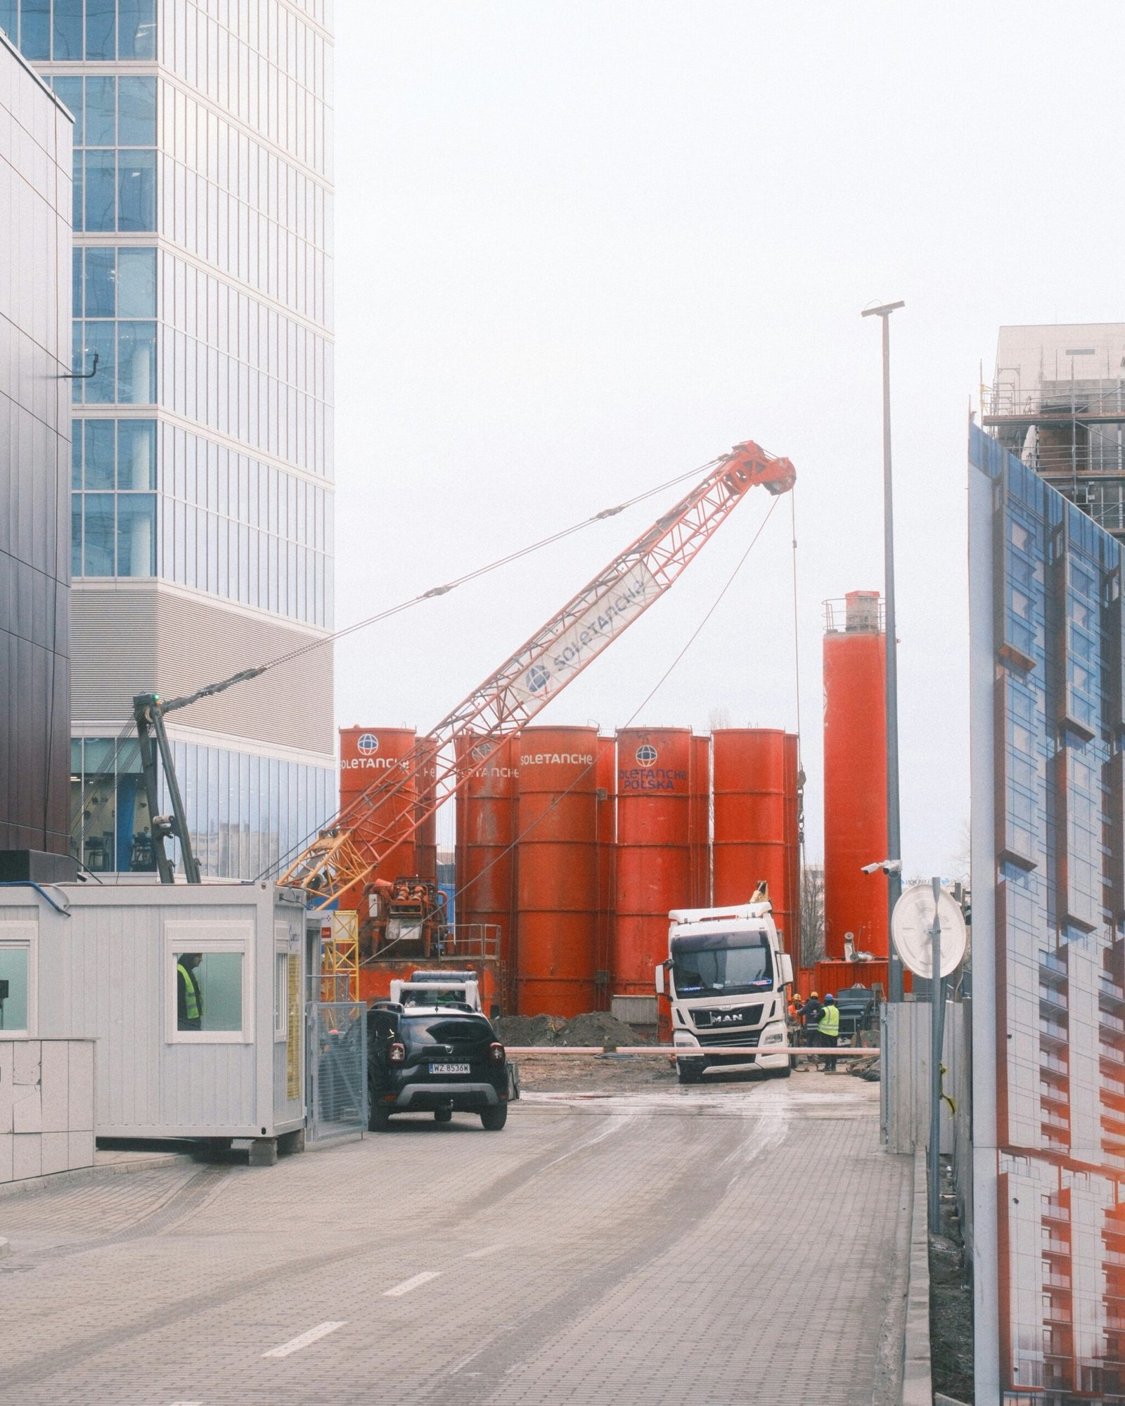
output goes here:
<path id="1" fill-rule="evenodd" d="M 862 866 L 887 856 L 886 636 L 879 593 L 828 606 L 824 634 L 824 949 L 844 935 L 887 956 L 887 880 Z"/>

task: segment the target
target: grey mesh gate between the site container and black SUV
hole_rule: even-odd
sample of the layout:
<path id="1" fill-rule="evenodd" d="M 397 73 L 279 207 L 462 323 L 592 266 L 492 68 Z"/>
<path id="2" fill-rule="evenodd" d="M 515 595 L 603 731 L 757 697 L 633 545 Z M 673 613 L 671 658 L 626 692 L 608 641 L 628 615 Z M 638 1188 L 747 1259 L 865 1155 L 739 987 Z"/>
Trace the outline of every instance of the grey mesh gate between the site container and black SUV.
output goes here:
<path id="1" fill-rule="evenodd" d="M 367 1005 L 308 1005 L 309 1142 L 353 1137 L 367 1129 Z"/>

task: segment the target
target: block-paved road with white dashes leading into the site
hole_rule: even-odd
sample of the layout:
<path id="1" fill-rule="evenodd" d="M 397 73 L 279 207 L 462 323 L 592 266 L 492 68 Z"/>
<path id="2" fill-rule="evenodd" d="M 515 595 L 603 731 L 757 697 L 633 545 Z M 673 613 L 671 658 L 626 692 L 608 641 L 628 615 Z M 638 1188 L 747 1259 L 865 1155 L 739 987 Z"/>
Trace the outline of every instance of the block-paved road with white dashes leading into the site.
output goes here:
<path id="1" fill-rule="evenodd" d="M 875 1095 L 540 1094 L 4 1198 L 0 1402 L 889 1402 L 911 1170 Z"/>

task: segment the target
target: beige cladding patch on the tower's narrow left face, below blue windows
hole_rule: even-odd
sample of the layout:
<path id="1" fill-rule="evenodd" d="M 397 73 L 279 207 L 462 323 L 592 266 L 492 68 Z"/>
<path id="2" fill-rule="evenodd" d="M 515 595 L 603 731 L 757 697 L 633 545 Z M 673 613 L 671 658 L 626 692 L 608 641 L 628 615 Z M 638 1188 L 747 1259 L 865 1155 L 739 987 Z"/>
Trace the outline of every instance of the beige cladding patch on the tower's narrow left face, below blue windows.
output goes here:
<path id="1" fill-rule="evenodd" d="M 70 686 L 76 721 L 124 727 L 132 699 L 156 688 L 156 585 L 79 589 L 70 598 Z"/>

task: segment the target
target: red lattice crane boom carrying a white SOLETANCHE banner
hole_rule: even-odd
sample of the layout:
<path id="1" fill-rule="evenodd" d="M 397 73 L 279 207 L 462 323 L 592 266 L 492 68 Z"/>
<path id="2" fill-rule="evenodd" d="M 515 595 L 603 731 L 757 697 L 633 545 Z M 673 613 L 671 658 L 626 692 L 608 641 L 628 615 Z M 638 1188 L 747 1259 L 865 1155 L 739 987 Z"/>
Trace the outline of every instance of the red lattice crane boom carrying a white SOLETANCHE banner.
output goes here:
<path id="1" fill-rule="evenodd" d="M 795 482 L 788 458 L 768 454 L 751 441 L 735 444 L 710 465 L 686 498 L 577 592 L 419 738 L 395 768 L 342 810 L 278 882 L 305 889 L 314 908 L 339 903 L 349 890 L 363 886 L 398 845 L 460 790 L 472 768 L 526 727 L 683 574 L 751 488 L 761 485 L 778 495 Z M 468 745 L 458 748 L 458 741 Z M 413 783 L 423 770 L 426 790 L 419 797 Z M 349 955 L 336 953 L 336 959 L 335 970 L 345 972 L 357 963 L 357 948 L 349 945 Z M 333 962 L 330 953 L 328 960 Z"/>

